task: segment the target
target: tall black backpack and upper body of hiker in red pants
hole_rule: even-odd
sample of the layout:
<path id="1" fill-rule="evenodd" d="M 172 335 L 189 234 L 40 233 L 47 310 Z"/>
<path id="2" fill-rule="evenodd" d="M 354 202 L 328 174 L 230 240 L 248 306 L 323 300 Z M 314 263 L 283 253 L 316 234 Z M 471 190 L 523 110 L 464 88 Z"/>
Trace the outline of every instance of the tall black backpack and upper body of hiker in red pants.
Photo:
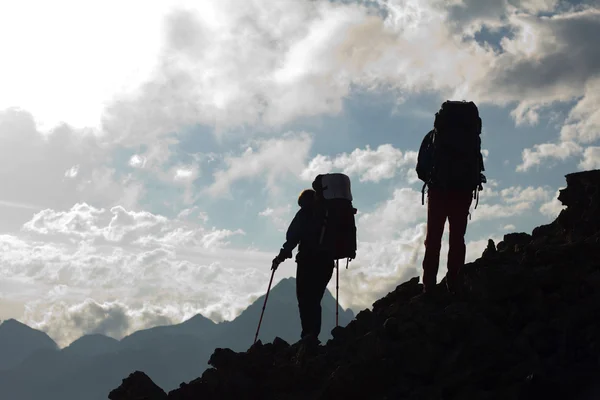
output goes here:
<path id="1" fill-rule="evenodd" d="M 483 189 L 481 118 L 472 101 L 445 101 L 435 114 L 434 129 L 421 143 L 417 176 L 425 187 Z M 477 206 L 477 205 L 476 205 Z"/>

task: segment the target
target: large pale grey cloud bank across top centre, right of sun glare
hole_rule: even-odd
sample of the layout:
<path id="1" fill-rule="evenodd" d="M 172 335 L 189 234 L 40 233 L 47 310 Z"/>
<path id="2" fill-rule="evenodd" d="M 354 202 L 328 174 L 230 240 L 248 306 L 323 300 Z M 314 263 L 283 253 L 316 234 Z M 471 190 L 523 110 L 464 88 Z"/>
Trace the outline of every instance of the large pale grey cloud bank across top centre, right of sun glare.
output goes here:
<path id="1" fill-rule="evenodd" d="M 337 114 L 353 87 L 460 91 L 486 78 L 493 54 L 445 20 L 428 2 L 186 4 L 166 19 L 155 74 L 107 107 L 103 127 L 134 144 L 197 123 L 222 131 Z"/>

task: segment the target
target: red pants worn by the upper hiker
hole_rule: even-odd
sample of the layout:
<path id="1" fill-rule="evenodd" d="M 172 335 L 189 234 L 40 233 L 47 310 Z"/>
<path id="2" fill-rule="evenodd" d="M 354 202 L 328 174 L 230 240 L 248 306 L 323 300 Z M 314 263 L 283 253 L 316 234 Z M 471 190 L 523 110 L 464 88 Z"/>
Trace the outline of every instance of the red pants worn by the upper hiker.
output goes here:
<path id="1" fill-rule="evenodd" d="M 425 290 L 433 288 L 437 281 L 446 218 L 450 224 L 447 279 L 453 281 L 465 263 L 465 233 L 473 192 L 431 188 L 427 197 L 427 236 L 425 237 L 425 257 L 423 258 Z"/>

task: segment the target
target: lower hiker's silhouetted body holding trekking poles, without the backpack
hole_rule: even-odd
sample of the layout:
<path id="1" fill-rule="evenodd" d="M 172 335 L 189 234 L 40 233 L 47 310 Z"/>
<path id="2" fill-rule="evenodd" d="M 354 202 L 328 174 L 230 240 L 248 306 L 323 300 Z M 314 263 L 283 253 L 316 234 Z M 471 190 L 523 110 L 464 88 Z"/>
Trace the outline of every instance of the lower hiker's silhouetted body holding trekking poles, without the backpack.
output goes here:
<path id="1" fill-rule="evenodd" d="M 277 268 L 279 263 L 292 258 L 292 251 L 298 246 L 296 297 L 302 325 L 300 337 L 315 341 L 318 341 L 321 332 L 321 300 L 335 267 L 333 259 L 319 249 L 322 217 L 318 202 L 312 189 L 306 189 L 300 194 L 300 210 L 287 230 L 286 242 L 279 255 L 273 260 Z"/>

